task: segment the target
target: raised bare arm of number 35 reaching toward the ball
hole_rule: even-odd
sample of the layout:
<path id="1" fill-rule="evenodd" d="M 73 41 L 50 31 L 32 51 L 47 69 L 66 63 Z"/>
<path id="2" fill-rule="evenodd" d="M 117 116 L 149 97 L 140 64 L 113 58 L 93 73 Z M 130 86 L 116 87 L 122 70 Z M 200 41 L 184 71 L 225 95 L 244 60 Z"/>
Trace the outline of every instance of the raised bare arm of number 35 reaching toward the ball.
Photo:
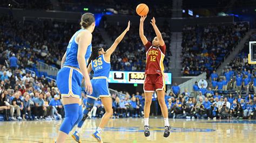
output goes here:
<path id="1" fill-rule="evenodd" d="M 114 40 L 114 43 L 112 44 L 112 46 L 109 49 L 107 49 L 106 53 L 104 54 L 104 57 L 107 62 L 110 62 L 111 54 L 117 48 L 117 45 L 123 40 L 126 32 L 129 31 L 129 29 L 130 29 L 130 21 L 128 22 L 128 25 L 127 25 L 126 29 L 124 30 L 124 32 L 122 34 L 120 34 L 116 40 Z"/>

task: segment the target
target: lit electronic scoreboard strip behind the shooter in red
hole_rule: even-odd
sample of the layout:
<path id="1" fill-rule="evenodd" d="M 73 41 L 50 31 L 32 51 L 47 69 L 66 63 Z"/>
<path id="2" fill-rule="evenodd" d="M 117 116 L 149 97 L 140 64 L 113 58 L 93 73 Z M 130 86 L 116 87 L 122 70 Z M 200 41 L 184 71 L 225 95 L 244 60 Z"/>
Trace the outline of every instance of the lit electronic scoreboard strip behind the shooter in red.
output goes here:
<path id="1" fill-rule="evenodd" d="M 172 84 L 172 74 L 164 73 L 165 84 Z M 144 72 L 134 71 L 110 71 L 109 83 L 139 83 L 145 80 Z"/>

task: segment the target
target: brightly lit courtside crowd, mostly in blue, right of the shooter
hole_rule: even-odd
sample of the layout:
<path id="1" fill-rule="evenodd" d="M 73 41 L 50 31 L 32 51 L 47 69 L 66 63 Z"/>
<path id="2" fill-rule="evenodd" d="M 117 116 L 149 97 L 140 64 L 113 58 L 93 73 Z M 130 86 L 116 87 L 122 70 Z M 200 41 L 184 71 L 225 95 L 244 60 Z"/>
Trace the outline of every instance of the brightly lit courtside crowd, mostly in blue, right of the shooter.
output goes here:
<path id="1" fill-rule="evenodd" d="M 196 82 L 193 92 L 187 89 L 180 93 L 178 85 L 173 85 L 165 96 L 170 118 L 187 119 L 256 119 L 256 96 L 230 93 L 228 96 L 215 90 L 211 85 L 199 88 Z M 237 96 L 238 95 L 238 96 Z"/>

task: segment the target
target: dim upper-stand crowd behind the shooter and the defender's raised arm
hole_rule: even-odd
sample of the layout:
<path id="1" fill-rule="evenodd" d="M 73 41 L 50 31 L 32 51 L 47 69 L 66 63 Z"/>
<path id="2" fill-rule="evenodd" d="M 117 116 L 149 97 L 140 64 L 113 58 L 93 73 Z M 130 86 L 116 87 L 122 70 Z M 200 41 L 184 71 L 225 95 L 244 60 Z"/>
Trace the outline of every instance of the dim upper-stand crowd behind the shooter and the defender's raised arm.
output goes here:
<path id="1" fill-rule="evenodd" d="M 144 25 L 144 34 L 149 41 L 156 36 L 151 25 Z M 104 28 L 111 38 L 112 41 L 117 38 L 117 36 L 123 32 L 125 27 L 119 26 L 118 23 L 110 24 L 104 22 Z M 171 31 L 170 25 L 166 22 L 163 26 L 159 26 L 159 30 L 164 32 L 163 34 L 166 53 L 164 59 L 165 71 L 169 71 L 169 61 L 170 61 L 170 42 L 171 42 Z M 111 56 L 111 70 L 121 70 L 121 71 L 144 71 L 146 66 L 146 55 L 145 55 L 145 46 L 140 40 L 138 33 L 139 27 L 132 26 L 130 27 L 129 33 L 125 35 L 124 39 L 118 45 L 118 48 Z M 145 55 L 145 56 L 142 56 Z"/>

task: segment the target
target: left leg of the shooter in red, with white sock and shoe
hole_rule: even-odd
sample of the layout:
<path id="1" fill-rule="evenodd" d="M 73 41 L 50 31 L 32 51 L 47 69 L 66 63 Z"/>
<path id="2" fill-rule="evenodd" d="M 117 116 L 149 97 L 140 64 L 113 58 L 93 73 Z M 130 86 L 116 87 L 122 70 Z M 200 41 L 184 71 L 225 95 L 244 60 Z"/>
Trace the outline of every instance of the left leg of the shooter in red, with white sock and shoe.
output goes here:
<path id="1" fill-rule="evenodd" d="M 145 94 L 145 105 L 144 105 L 144 135 L 149 137 L 150 135 L 150 125 L 149 125 L 149 115 L 150 115 L 150 105 L 152 102 L 153 92 L 144 92 Z"/>

